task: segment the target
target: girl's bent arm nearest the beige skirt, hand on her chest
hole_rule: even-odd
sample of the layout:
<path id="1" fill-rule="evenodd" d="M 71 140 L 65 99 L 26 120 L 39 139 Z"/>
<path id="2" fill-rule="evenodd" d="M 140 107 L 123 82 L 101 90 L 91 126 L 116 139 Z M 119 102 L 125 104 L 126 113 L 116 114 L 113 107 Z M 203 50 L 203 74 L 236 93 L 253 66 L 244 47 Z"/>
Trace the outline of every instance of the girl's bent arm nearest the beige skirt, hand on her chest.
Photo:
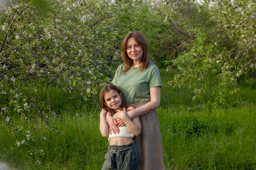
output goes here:
<path id="1" fill-rule="evenodd" d="M 127 116 L 127 113 L 125 111 L 125 108 L 123 111 L 116 112 L 116 118 L 114 119 L 122 119 L 125 122 L 125 125 L 127 128 L 136 136 L 140 135 L 141 132 L 141 125 L 140 125 L 140 119 L 139 117 L 134 117 L 132 120 Z"/>

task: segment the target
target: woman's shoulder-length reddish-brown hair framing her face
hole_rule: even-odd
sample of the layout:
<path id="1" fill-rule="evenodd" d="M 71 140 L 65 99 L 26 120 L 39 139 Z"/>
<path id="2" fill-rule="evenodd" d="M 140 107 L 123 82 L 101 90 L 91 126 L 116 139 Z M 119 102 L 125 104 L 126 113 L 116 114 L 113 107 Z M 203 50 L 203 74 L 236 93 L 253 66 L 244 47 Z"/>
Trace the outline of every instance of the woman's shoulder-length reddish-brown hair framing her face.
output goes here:
<path id="1" fill-rule="evenodd" d="M 133 65 L 133 60 L 130 57 L 128 57 L 128 54 L 126 52 L 127 41 L 130 38 L 134 38 L 134 40 L 143 49 L 143 55 L 142 55 L 142 58 L 140 61 L 140 62 L 142 62 L 142 67 L 140 68 L 140 71 L 145 70 L 148 67 L 148 62 L 151 61 L 150 54 L 149 54 L 148 41 L 145 39 L 144 35 L 141 32 L 131 31 L 125 36 L 124 40 L 122 41 L 122 45 L 121 45 L 122 61 L 123 61 L 123 64 L 125 65 L 125 69 L 123 70 L 123 73 L 126 73 L 130 69 L 130 67 Z"/>

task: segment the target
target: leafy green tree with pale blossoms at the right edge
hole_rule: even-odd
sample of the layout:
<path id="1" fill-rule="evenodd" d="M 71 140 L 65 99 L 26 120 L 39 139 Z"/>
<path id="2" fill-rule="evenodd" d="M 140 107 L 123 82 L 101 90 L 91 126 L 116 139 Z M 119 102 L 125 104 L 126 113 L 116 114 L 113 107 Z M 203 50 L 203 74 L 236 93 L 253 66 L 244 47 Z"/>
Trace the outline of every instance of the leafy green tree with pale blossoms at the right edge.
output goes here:
<path id="1" fill-rule="evenodd" d="M 196 87 L 193 99 L 202 99 L 205 77 L 211 75 L 219 82 L 214 92 L 215 104 L 227 102 L 228 94 L 236 94 L 240 102 L 237 82 L 241 77 L 251 76 L 256 69 L 255 7 L 253 0 L 205 0 L 198 5 L 200 18 L 207 20 L 204 25 L 191 20 L 189 30 L 195 41 L 192 47 L 184 43 L 188 51 L 173 60 L 178 74 L 169 83 Z"/>

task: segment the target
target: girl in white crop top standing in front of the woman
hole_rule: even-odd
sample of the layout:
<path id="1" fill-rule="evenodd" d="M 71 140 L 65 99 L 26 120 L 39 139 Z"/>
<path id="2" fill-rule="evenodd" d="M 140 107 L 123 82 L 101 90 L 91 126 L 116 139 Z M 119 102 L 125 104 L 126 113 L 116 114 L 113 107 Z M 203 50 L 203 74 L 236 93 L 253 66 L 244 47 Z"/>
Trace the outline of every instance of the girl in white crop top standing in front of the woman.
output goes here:
<path id="1" fill-rule="evenodd" d="M 116 85 L 105 85 L 100 92 L 99 100 L 103 108 L 100 113 L 99 129 L 102 136 L 108 137 L 109 141 L 108 152 L 105 154 L 102 170 L 136 170 L 138 153 L 133 137 L 140 135 L 141 125 L 139 117 L 128 118 L 124 97 Z M 133 109 L 134 106 L 130 106 L 127 111 Z M 122 119 L 125 122 L 125 126 L 119 127 L 119 133 L 109 134 L 109 127 L 105 116 L 107 112 L 111 113 L 113 119 Z"/>

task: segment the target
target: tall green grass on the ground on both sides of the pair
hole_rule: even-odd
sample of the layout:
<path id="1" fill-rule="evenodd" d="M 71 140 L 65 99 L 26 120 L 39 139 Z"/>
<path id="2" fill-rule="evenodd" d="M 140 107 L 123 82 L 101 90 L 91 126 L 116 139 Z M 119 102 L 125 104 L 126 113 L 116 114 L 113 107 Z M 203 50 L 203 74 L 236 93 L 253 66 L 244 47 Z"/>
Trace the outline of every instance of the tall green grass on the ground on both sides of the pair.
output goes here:
<path id="1" fill-rule="evenodd" d="M 256 106 L 189 112 L 186 108 L 159 108 L 166 169 L 256 169 Z M 107 139 L 99 133 L 99 113 L 63 115 L 53 119 L 58 133 L 39 122 L 31 142 L 44 150 L 42 169 L 99 170 Z M 15 118 L 24 131 L 26 122 Z M 23 170 L 41 169 L 26 145 L 15 145 L 10 127 L 0 127 L 0 160 Z M 45 142 L 37 142 L 46 137 Z"/>

